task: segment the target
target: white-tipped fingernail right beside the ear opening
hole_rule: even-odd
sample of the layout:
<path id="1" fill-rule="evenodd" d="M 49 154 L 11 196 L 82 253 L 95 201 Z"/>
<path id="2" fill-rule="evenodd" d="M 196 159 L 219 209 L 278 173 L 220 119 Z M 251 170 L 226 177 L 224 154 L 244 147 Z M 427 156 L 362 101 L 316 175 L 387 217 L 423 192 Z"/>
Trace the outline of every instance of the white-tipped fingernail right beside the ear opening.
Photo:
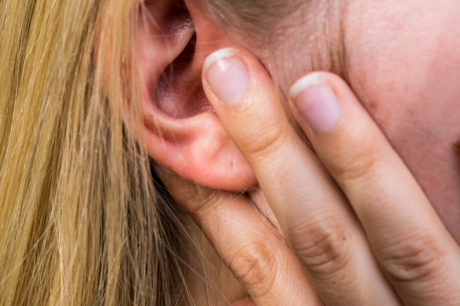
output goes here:
<path id="1" fill-rule="evenodd" d="M 203 65 L 203 74 L 224 103 L 235 104 L 246 95 L 249 74 L 235 49 L 220 49 L 208 56 Z"/>

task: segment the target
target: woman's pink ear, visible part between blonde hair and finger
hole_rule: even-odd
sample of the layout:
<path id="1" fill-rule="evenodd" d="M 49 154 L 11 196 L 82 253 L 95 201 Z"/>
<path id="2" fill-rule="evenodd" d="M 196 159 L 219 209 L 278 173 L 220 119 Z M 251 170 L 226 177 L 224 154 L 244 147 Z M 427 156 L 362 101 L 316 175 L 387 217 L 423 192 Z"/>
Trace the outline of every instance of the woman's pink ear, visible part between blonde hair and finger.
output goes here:
<path id="1" fill-rule="evenodd" d="M 206 57 L 233 44 L 199 1 L 185 1 L 190 15 L 174 2 L 147 0 L 147 11 L 140 12 L 137 52 L 148 153 L 197 184 L 225 190 L 250 188 L 256 183 L 253 171 L 217 115 L 209 112 L 212 108 L 201 85 Z M 195 50 L 189 43 L 194 33 Z"/>

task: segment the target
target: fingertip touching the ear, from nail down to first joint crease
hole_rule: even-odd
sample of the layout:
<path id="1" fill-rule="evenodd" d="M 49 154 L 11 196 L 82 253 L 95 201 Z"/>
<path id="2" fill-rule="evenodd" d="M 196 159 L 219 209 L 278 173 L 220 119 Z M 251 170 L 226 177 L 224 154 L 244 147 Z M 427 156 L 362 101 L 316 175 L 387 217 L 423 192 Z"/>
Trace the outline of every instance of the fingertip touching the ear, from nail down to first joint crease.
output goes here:
<path id="1" fill-rule="evenodd" d="M 267 152 L 266 147 L 275 147 L 271 145 L 280 143 L 280 135 L 290 128 L 270 74 L 246 50 L 212 54 L 203 68 L 203 87 L 224 129 L 248 161 Z"/>

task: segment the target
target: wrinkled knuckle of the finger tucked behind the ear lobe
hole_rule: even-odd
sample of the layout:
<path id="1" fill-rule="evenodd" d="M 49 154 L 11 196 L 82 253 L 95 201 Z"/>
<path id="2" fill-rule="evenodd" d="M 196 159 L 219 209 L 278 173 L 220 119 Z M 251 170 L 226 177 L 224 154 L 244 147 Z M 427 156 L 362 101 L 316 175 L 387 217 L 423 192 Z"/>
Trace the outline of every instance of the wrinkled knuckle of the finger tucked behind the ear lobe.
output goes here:
<path id="1" fill-rule="evenodd" d="M 275 254 L 265 242 L 247 242 L 231 258 L 236 275 L 260 297 L 270 292 L 276 279 Z"/>

